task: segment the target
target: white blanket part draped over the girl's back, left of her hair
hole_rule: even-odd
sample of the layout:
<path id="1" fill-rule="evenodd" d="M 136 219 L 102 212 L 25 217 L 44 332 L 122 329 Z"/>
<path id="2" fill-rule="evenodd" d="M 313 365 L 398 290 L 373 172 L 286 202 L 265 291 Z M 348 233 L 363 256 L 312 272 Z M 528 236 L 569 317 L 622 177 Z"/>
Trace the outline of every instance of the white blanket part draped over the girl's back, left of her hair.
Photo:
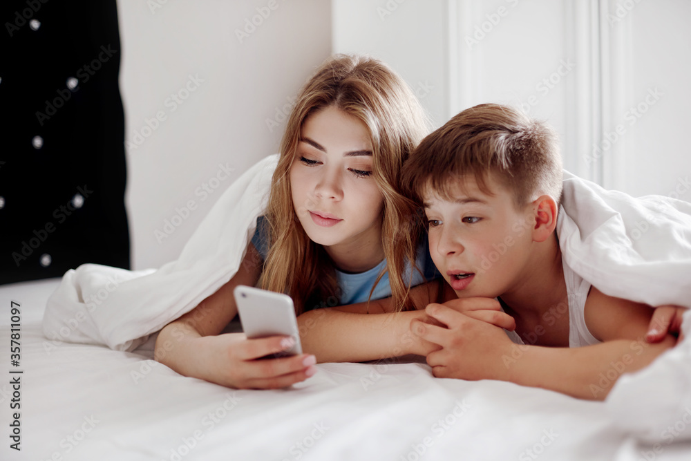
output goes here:
<path id="1" fill-rule="evenodd" d="M 158 270 L 98 264 L 68 270 L 46 305 L 46 337 L 131 351 L 214 294 L 240 266 L 277 160 L 275 154 L 261 160 L 220 196 L 177 261 Z"/>

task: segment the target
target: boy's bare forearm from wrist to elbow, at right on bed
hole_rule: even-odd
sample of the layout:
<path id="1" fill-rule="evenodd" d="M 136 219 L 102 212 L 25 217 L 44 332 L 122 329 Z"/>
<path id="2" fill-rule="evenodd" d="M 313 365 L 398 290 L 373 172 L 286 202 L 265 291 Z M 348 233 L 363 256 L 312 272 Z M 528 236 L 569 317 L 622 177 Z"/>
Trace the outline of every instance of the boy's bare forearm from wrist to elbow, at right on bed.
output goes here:
<path id="1" fill-rule="evenodd" d="M 617 339 L 581 348 L 513 346 L 503 357 L 508 379 L 523 386 L 551 389 L 580 399 L 603 400 L 623 373 L 649 365 L 674 346 L 668 336 L 659 344 Z"/>

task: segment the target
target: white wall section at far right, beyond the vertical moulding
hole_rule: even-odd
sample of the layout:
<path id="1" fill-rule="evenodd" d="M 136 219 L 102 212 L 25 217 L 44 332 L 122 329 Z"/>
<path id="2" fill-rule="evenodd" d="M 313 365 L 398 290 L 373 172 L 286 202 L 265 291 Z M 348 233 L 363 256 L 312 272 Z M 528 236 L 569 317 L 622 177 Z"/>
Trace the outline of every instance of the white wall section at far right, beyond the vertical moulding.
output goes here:
<path id="1" fill-rule="evenodd" d="M 634 195 L 663 194 L 691 201 L 691 2 L 634 3 L 607 23 L 612 37 L 610 126 L 623 135 L 603 151 L 605 185 Z M 616 56 L 616 57 L 615 57 Z"/>

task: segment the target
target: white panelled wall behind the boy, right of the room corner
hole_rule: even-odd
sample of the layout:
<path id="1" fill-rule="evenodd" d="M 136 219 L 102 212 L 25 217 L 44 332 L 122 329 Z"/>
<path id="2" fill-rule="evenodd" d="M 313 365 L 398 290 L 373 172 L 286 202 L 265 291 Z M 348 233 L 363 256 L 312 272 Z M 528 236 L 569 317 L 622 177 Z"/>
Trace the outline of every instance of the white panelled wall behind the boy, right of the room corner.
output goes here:
<path id="1" fill-rule="evenodd" d="M 684 136 L 691 122 L 691 2 L 332 3 L 334 52 L 368 51 L 411 86 L 430 82 L 422 102 L 436 126 L 482 102 L 522 106 L 560 133 L 570 171 L 634 196 L 691 200 Z M 603 136 L 613 139 L 612 130 L 650 88 L 664 96 L 600 153 Z"/>

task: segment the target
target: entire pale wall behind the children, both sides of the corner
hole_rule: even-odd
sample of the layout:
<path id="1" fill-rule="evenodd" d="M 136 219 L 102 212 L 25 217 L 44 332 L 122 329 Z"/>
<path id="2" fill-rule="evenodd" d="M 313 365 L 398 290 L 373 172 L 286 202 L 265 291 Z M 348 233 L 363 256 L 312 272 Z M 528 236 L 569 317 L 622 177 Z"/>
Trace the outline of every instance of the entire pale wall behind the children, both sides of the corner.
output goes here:
<path id="1" fill-rule="evenodd" d="M 176 258 L 218 192 L 278 150 L 283 106 L 332 52 L 390 64 L 435 126 L 480 102 L 523 104 L 559 131 L 571 171 L 634 195 L 691 200 L 691 2 L 120 0 L 118 8 L 135 268 Z M 617 13 L 598 26 L 598 17 Z M 238 38 L 245 27 L 251 33 Z M 649 88 L 663 96 L 586 162 Z M 176 106 L 169 98 L 178 93 L 188 97 Z M 234 169 L 227 178 L 220 164 Z M 225 180 L 205 194 L 217 174 Z M 196 209 L 176 218 L 190 200 Z M 181 223 L 157 238 L 166 220 Z"/>

